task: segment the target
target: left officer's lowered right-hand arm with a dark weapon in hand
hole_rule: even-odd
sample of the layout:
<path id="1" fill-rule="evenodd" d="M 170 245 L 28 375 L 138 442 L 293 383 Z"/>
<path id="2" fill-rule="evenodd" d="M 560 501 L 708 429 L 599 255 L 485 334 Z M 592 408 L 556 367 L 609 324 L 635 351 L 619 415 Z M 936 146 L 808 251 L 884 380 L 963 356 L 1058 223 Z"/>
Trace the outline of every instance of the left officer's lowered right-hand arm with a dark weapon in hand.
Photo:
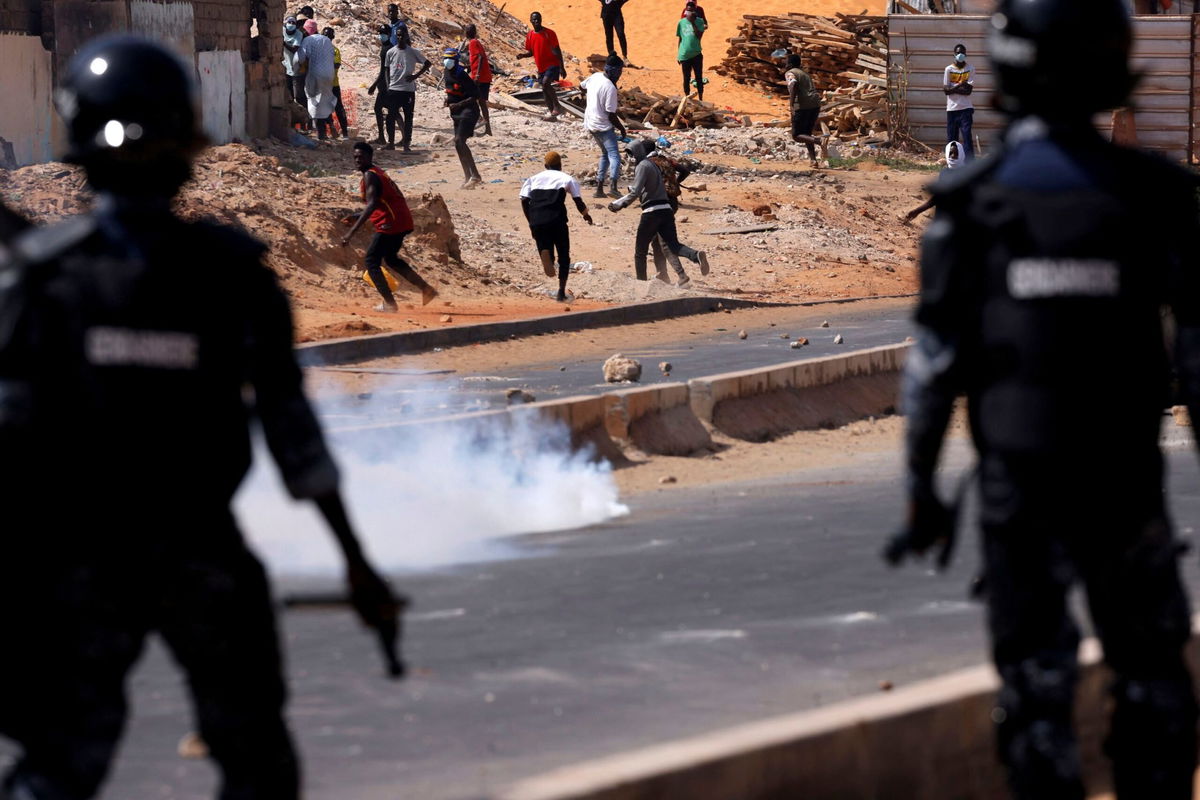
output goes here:
<path id="1" fill-rule="evenodd" d="M 367 561 L 338 488 L 337 467 L 320 426 L 304 395 L 302 377 L 292 350 L 292 312 L 287 297 L 265 267 L 247 276 L 250 381 L 254 409 L 266 445 L 292 497 L 311 499 L 325 518 L 346 563 L 350 604 L 359 619 L 384 642 L 388 672 L 403 673 L 395 652 L 397 616 L 403 601 Z"/>

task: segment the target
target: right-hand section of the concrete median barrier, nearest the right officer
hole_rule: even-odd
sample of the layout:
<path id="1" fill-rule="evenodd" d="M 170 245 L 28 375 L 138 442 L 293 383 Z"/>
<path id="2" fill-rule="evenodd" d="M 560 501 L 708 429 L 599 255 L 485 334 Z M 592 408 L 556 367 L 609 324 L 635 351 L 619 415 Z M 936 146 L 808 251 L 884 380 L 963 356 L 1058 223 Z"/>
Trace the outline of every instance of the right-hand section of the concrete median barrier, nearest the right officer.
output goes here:
<path id="1" fill-rule="evenodd" d="M 688 381 L 691 410 L 736 439 L 767 439 L 892 413 L 910 344 Z"/>

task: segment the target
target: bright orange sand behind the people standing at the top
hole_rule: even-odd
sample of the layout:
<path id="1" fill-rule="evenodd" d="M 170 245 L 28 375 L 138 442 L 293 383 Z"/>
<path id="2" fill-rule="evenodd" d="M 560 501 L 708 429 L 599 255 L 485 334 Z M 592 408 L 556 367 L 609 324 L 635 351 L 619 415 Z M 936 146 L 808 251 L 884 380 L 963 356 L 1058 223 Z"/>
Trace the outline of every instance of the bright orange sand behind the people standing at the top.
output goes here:
<path id="1" fill-rule="evenodd" d="M 676 24 L 683 11 L 684 0 L 629 0 L 625 4 L 625 36 L 629 40 L 629 59 L 644 70 L 626 70 L 622 78 L 624 86 L 641 86 L 662 94 L 678 95 L 683 90 L 683 77 L 676 62 Z M 782 116 L 784 103 L 757 89 L 734 83 L 712 71 L 728 48 L 727 40 L 737 36 L 743 14 L 786 14 L 804 12 L 811 14 L 851 13 L 863 11 L 883 13 L 884 0 L 736 0 L 721 4 L 716 0 L 700 0 L 710 25 L 704 35 L 704 74 L 709 84 L 704 100 L 727 107 L 733 112 L 762 116 Z M 528 19 L 540 11 L 547 28 L 558 34 L 563 49 L 577 56 L 583 64 L 569 65 L 568 77 L 575 82 L 578 72 L 587 70 L 586 59 L 592 53 L 604 53 L 604 25 L 600 23 L 598 0 L 510 0 L 505 11 L 518 19 Z M 486 38 L 486 35 L 484 36 Z M 618 47 L 616 40 L 613 46 Z"/>

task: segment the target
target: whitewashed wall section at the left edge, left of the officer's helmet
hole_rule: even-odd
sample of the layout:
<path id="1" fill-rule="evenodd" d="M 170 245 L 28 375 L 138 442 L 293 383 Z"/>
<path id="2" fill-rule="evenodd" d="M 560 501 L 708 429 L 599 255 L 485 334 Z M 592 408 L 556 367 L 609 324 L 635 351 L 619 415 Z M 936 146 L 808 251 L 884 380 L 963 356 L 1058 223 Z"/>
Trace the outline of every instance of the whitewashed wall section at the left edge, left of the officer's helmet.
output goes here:
<path id="1" fill-rule="evenodd" d="M 0 137 L 18 167 L 54 157 L 50 60 L 40 36 L 0 34 Z"/>

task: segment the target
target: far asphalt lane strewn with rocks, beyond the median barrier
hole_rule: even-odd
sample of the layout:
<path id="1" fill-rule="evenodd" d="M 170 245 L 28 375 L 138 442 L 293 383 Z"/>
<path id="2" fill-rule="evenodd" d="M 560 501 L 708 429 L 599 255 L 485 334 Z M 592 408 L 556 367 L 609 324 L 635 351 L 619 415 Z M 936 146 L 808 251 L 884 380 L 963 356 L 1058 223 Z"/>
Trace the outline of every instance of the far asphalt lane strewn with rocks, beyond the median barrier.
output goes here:
<path id="1" fill-rule="evenodd" d="M 803 313 L 814 318 L 811 308 Z M 738 321 L 738 313 L 698 314 L 694 318 L 696 336 L 673 342 L 655 342 L 653 347 L 624 350 L 625 355 L 642 362 L 644 367 L 638 385 L 688 380 L 701 375 L 713 375 L 738 369 L 752 369 L 790 361 L 817 359 L 863 350 L 883 344 L 902 342 L 913 332 L 911 308 L 872 308 L 869 306 L 830 306 L 823 314 L 829 327 L 820 327 L 821 317 L 804 325 L 779 327 L 746 326 Z M 780 311 L 786 318 L 787 311 Z M 739 330 L 746 338 L 739 339 Z M 604 331 L 598 331 L 602 335 Z M 782 339 L 780 333 L 791 338 Z M 845 338 L 844 344 L 834 344 L 835 336 Z M 791 342 L 806 337 L 810 342 L 803 349 L 791 349 Z M 673 371 L 670 378 L 658 371 L 660 361 L 670 361 Z M 529 391 L 536 399 L 554 399 L 572 395 L 595 395 L 613 389 L 602 381 L 595 359 L 570 359 L 534 362 L 502 373 L 438 373 L 406 368 L 412 356 L 382 360 L 371 367 L 348 369 L 373 369 L 366 373 L 377 379 L 370 398 L 362 403 L 338 402 L 326 407 L 324 422 L 332 429 L 346 426 L 384 423 L 413 420 L 422 416 L 442 416 L 504 408 L 504 392 L 510 387 Z M 392 372 L 388 372 L 392 369 Z"/>

